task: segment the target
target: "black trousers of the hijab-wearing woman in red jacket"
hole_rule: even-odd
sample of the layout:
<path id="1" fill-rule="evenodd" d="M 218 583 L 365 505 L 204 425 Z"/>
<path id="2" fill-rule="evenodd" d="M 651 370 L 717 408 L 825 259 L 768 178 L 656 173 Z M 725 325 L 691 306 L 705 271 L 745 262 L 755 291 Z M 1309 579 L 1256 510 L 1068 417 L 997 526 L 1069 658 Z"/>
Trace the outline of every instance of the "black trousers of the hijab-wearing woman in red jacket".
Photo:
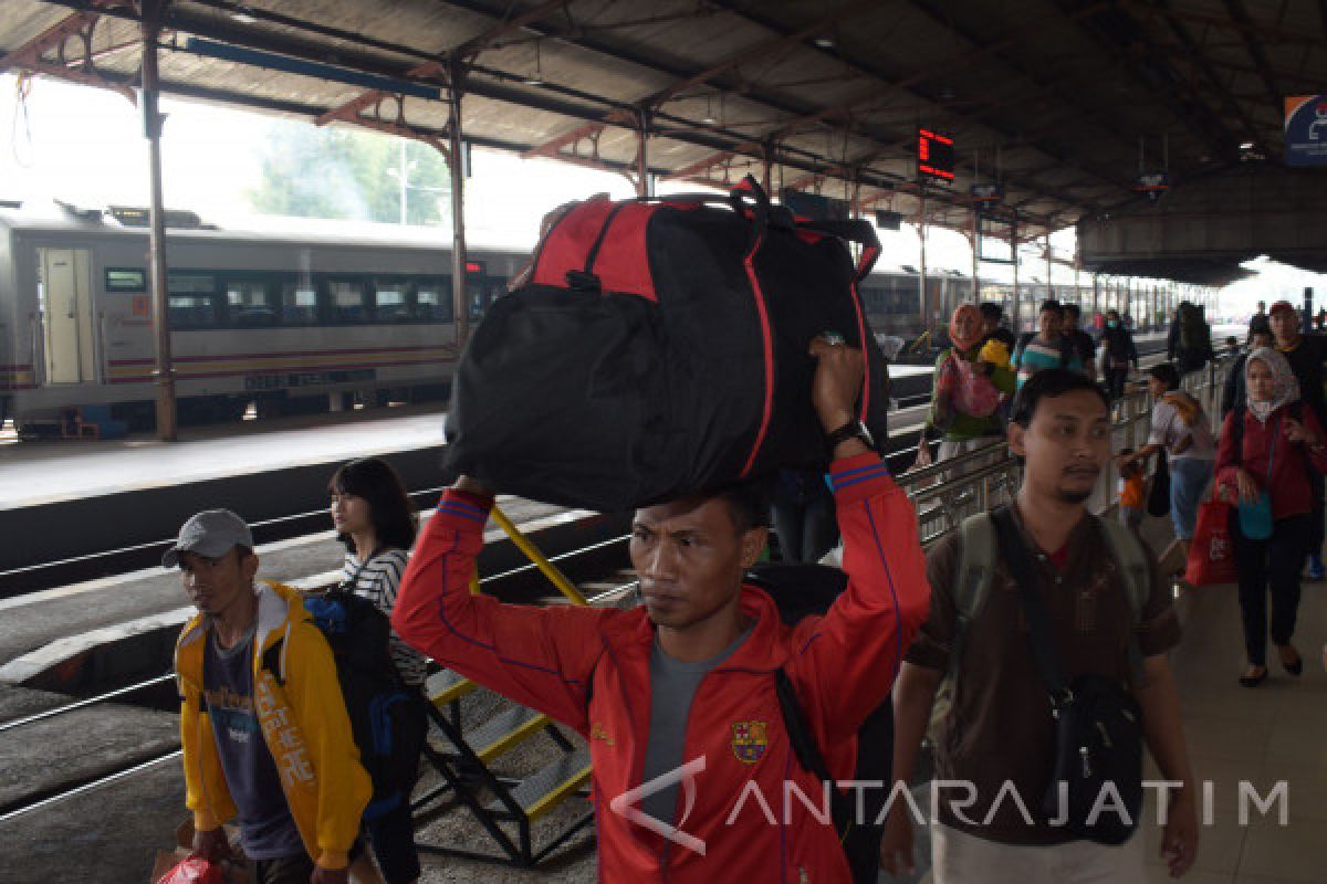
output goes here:
<path id="1" fill-rule="evenodd" d="M 1271 590 L 1271 640 L 1290 644 L 1299 615 L 1299 569 L 1308 546 L 1308 516 L 1277 520 L 1271 537 L 1253 541 L 1239 533 L 1238 509 L 1230 509 L 1230 537 L 1239 569 L 1239 615 L 1249 664 L 1267 665 L 1267 590 Z"/>

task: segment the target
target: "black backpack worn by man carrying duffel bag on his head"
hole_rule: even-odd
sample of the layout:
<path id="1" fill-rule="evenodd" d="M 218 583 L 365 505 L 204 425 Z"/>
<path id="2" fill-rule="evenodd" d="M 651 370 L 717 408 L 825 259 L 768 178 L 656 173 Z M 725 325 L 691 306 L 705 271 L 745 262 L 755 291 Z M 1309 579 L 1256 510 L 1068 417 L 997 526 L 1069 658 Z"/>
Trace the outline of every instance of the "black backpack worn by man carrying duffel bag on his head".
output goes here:
<path id="1" fill-rule="evenodd" d="M 795 626 L 805 616 L 828 611 L 848 587 L 848 575 L 825 565 L 756 565 L 747 571 L 746 583 L 768 592 L 779 607 L 779 618 Z M 775 673 L 775 691 L 798 763 L 821 782 L 833 783 L 792 680 L 782 668 Z M 848 795 L 837 786 L 829 789 L 831 816 L 855 884 L 873 884 L 880 875 L 884 826 L 874 822 L 889 798 L 893 753 L 894 716 L 890 698 L 885 697 L 857 729 L 857 763 L 852 779 L 882 783 L 878 789 L 863 789 L 863 826 L 857 826 L 856 795 Z"/>

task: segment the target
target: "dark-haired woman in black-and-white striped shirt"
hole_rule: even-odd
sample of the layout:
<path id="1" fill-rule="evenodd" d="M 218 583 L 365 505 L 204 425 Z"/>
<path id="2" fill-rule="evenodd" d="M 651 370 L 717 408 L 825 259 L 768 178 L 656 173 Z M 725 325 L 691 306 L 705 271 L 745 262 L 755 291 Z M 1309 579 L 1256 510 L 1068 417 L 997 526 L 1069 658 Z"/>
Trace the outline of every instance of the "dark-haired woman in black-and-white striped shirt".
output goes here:
<path id="1" fill-rule="evenodd" d="M 337 537 L 346 547 L 341 586 L 391 616 L 417 530 L 401 477 L 377 457 L 352 460 L 332 476 L 328 493 Z M 407 685 L 422 689 L 429 660 L 394 631 L 391 660 Z M 387 884 L 419 879 L 409 803 L 366 822 L 365 828 Z"/>

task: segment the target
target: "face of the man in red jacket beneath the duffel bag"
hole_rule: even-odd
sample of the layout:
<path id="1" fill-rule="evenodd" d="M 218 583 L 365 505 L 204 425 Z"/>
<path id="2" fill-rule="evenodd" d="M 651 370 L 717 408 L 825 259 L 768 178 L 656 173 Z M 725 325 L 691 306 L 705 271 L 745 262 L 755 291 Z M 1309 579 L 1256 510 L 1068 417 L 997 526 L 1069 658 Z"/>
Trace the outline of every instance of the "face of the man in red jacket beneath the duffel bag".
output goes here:
<path id="1" fill-rule="evenodd" d="M 766 529 L 738 533 L 727 501 L 687 498 L 636 510 L 632 566 L 650 622 L 683 630 L 734 602 Z"/>

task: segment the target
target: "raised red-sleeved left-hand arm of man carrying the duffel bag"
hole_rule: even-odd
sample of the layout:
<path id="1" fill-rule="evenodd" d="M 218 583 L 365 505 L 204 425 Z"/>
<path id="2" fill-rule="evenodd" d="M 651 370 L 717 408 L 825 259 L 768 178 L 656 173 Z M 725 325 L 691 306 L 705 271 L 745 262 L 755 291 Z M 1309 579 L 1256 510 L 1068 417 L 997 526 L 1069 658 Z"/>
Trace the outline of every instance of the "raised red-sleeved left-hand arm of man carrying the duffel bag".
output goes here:
<path id="1" fill-rule="evenodd" d="M 612 611 L 503 604 L 470 594 L 492 493 L 462 477 L 419 535 L 391 626 L 439 664 L 584 733 L 588 680 Z"/>

